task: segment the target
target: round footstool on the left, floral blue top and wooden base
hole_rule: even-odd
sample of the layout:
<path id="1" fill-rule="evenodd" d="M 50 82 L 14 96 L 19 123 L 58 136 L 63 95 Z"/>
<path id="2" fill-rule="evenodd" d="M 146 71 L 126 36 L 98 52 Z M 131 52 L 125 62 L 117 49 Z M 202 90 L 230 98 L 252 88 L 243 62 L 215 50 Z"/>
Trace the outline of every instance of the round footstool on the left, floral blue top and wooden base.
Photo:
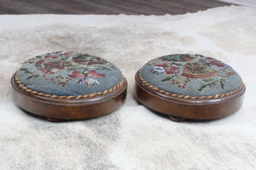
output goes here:
<path id="1" fill-rule="evenodd" d="M 106 115 L 124 103 L 127 89 L 117 66 L 74 52 L 29 59 L 11 83 L 16 105 L 51 122 Z"/>

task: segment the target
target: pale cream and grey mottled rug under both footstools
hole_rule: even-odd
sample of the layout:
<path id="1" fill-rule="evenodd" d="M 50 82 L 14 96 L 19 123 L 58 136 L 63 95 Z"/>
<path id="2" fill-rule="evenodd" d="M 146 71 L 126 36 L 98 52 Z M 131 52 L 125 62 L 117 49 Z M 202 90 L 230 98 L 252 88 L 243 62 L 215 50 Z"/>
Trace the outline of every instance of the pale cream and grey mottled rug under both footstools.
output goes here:
<path id="1" fill-rule="evenodd" d="M 256 169 L 256 9 L 196 14 L 0 15 L 0 169 Z M 128 96 L 96 119 L 52 123 L 21 111 L 10 78 L 26 59 L 52 51 L 98 55 L 118 65 Z M 134 99 L 134 75 L 149 59 L 204 54 L 238 71 L 247 86 L 235 115 L 172 122 Z"/>

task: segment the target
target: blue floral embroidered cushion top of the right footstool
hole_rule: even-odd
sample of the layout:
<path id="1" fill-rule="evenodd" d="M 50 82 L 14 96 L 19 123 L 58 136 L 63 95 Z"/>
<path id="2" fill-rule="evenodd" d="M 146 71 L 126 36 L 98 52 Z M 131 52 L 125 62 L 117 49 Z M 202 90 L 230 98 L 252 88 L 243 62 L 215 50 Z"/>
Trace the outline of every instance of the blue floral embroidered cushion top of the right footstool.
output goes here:
<path id="1" fill-rule="evenodd" d="M 172 54 L 150 60 L 142 68 L 150 85 L 189 96 L 226 94 L 241 86 L 241 77 L 229 65 L 200 54 Z"/>

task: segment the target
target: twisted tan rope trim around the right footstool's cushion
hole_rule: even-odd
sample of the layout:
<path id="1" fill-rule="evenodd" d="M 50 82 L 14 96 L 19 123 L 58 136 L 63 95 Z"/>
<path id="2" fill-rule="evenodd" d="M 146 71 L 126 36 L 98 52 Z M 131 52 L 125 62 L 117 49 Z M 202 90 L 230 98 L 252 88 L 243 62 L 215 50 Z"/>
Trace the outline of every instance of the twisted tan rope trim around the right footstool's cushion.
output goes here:
<path id="1" fill-rule="evenodd" d="M 161 90 L 160 88 L 156 88 L 156 87 L 152 86 L 146 80 L 143 79 L 141 70 L 139 71 L 139 78 L 143 82 L 144 86 L 148 86 L 148 88 L 151 88 L 151 89 L 153 89 L 153 90 L 155 90 L 155 91 L 157 91 L 161 94 L 170 95 L 172 97 L 177 97 L 179 99 L 181 99 L 181 98 L 183 98 L 183 99 L 217 99 L 217 98 L 223 98 L 224 96 L 229 96 L 231 94 L 236 94 L 243 87 L 243 82 L 241 82 L 241 86 L 239 88 L 236 88 L 236 90 L 233 90 L 233 91 L 231 91 L 229 93 L 226 93 L 226 94 L 216 94 L 216 95 L 210 95 L 210 96 L 189 96 L 189 95 L 185 96 L 185 95 L 172 94 L 172 93 L 166 92 L 165 90 Z"/>

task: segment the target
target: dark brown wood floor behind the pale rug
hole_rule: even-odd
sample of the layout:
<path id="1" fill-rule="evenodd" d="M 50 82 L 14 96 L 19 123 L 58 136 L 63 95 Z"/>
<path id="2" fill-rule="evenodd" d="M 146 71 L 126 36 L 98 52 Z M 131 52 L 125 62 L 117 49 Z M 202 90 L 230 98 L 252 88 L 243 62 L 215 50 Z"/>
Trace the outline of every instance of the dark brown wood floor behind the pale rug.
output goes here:
<path id="1" fill-rule="evenodd" d="M 0 14 L 186 14 L 230 4 L 217 0 L 0 0 Z"/>

